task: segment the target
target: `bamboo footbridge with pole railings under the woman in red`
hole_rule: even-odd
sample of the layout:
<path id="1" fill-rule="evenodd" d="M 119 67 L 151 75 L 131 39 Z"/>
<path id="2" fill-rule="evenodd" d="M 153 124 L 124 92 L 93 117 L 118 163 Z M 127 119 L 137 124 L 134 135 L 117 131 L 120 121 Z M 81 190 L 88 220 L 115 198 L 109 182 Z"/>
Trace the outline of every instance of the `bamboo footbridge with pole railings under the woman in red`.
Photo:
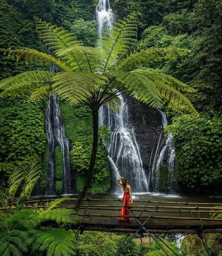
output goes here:
<path id="1" fill-rule="evenodd" d="M 27 208 L 45 207 L 44 204 L 55 199 L 32 200 L 26 202 Z M 73 209 L 77 198 L 70 198 L 61 208 Z M 11 208 L 16 208 L 11 203 Z M 119 221 L 122 207 L 130 213 L 132 221 Z M 79 220 L 70 226 L 76 230 L 75 236 L 84 231 L 103 231 L 125 233 L 131 240 L 147 233 L 154 241 L 160 240 L 159 233 L 197 234 L 207 251 L 205 233 L 222 232 L 222 218 L 210 218 L 210 214 L 221 214 L 222 203 L 196 203 L 134 200 L 133 206 L 122 205 L 119 199 L 84 199 L 77 215 Z M 0 208 L 3 210 L 3 208 Z M 99 214 L 98 214 L 99 212 Z M 129 217 L 129 216 L 122 216 Z M 53 226 L 53 223 L 50 223 Z M 130 233 L 132 236 L 130 237 Z M 142 241 L 142 240 L 141 240 Z M 160 245 L 161 247 L 161 245 Z M 168 246 L 167 246 L 168 247 Z M 121 249 L 121 248 L 120 248 Z M 121 253 L 122 249 L 118 253 Z M 175 254 L 175 253 L 174 253 Z M 209 255 L 209 254 L 208 254 Z"/>

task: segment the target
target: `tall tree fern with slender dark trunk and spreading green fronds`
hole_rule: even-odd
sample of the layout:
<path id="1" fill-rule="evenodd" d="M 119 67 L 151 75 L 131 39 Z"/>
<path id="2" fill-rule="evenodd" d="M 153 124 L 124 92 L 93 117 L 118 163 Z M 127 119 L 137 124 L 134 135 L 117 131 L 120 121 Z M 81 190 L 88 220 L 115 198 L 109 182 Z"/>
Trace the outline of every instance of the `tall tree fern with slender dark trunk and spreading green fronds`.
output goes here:
<path id="1" fill-rule="evenodd" d="M 143 64 L 165 58 L 175 59 L 188 51 L 175 47 L 144 50 L 142 44 L 132 49 L 137 36 L 133 17 L 119 20 L 105 30 L 97 48 L 84 47 L 74 34 L 41 19 L 36 18 L 36 27 L 53 56 L 27 48 L 3 52 L 17 60 L 23 58 L 26 62 L 54 65 L 57 72 L 28 71 L 3 79 L 0 95 L 15 95 L 28 89 L 32 93 L 30 100 L 36 101 L 47 98 L 51 92 L 67 104 L 83 103 L 90 107 L 93 145 L 85 185 L 75 207 L 77 210 L 91 186 L 98 146 L 98 113 L 102 105 L 118 112 L 121 105 L 118 96 L 128 93 L 155 108 L 162 108 L 169 102 L 174 110 L 198 115 L 190 101 L 178 91 L 194 92 L 194 89 L 158 70 L 141 68 Z"/>

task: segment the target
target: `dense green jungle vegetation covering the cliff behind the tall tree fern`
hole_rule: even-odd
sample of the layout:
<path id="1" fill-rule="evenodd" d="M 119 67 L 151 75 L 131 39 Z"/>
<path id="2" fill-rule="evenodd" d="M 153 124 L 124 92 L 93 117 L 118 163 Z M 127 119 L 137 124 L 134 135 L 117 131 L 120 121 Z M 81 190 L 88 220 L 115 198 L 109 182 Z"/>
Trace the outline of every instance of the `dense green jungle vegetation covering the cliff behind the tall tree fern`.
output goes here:
<path id="1" fill-rule="evenodd" d="M 33 16 L 63 26 L 73 32 L 86 46 L 95 46 L 96 23 L 92 17 L 96 4 L 90 1 L 36 1 L 34 3 L 33 1 L 1 0 L 0 47 L 11 49 L 29 47 L 47 52 L 48 50 L 38 39 Z M 186 96 L 200 113 L 199 117 L 180 116 L 166 105 L 168 119 L 172 119 L 172 125 L 167 127 L 166 132 L 173 134 L 176 148 L 175 171 L 181 189 L 188 186 L 195 191 L 202 191 L 213 187 L 216 193 L 220 192 L 222 177 L 221 3 L 203 0 L 158 0 L 111 1 L 111 5 L 116 19 L 128 14 L 136 17 L 138 44 L 143 42 L 146 47 L 176 46 L 191 50 L 185 57 L 156 64 L 156 68 L 196 89 L 194 94 Z M 24 60 L 16 62 L 3 53 L 1 53 L 0 62 L 1 79 L 39 67 L 37 63 L 26 65 Z M 2 98 L 0 101 L 1 162 L 17 165 L 21 161 L 26 162 L 33 153 L 36 153 L 42 158 L 43 166 L 47 166 L 48 153 L 44 132 L 46 102 L 33 105 L 28 102 L 26 95 Z M 81 177 L 88 165 L 90 143 L 85 143 L 87 138 L 84 137 L 83 140 L 80 131 L 88 130 L 90 140 L 91 117 L 87 109 L 82 107 L 74 112 L 65 111 L 65 108 L 66 106 L 62 107 L 62 115 L 68 137 L 73 142 L 71 162 L 79 174 L 77 188 L 81 190 Z M 81 125 L 81 122 L 85 125 Z M 74 126 L 78 131 L 76 135 L 69 133 L 69 129 Z M 99 145 L 101 162 L 96 163 L 99 174 L 94 175 L 93 178 L 92 192 L 94 193 L 103 193 L 110 188 L 110 174 L 102 140 Z M 80 149 L 81 154 L 80 150 L 75 148 Z M 80 162 L 78 158 L 81 159 Z M 43 169 L 42 190 L 46 184 L 47 168 Z M 62 173 L 62 170 L 60 172 Z M 3 175 L 7 180 L 8 173 L 4 172 Z M 59 180 L 61 177 L 58 178 L 57 191 L 61 190 Z M 107 180 L 107 183 L 103 184 L 101 182 L 103 180 Z"/>

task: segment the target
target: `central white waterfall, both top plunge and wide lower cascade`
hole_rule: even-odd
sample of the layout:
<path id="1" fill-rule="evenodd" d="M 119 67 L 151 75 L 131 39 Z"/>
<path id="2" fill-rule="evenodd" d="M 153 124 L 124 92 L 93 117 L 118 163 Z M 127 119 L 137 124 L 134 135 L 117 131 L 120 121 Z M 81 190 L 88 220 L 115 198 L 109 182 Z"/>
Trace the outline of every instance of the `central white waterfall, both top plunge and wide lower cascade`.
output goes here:
<path id="1" fill-rule="evenodd" d="M 109 0 L 99 0 L 96 8 L 96 20 L 98 23 L 98 35 L 111 26 L 115 16 L 110 8 Z M 108 160 L 112 172 L 112 189 L 116 193 L 121 192 L 116 179 L 126 176 L 133 191 L 148 191 L 148 184 L 143 169 L 143 163 L 139 152 L 139 146 L 135 138 L 135 132 L 128 119 L 128 106 L 126 99 L 119 96 L 121 109 L 119 114 L 101 107 L 99 111 L 99 125 L 105 124 L 111 130 L 111 143 L 108 146 Z M 107 122 L 104 116 L 108 115 Z"/>

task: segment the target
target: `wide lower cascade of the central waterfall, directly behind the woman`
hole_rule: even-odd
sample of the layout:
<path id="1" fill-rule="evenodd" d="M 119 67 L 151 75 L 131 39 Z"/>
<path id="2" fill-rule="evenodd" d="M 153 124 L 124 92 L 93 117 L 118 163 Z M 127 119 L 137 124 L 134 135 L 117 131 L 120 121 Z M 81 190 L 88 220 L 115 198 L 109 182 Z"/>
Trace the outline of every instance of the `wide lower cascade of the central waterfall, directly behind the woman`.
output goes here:
<path id="1" fill-rule="evenodd" d="M 112 176 L 125 176 L 134 192 L 146 192 L 147 179 L 135 131 L 128 117 L 127 101 L 122 96 L 119 98 L 122 103 L 119 114 L 103 107 L 99 114 L 99 125 L 105 124 L 111 131 L 111 143 L 107 150 Z M 116 189 L 116 178 L 113 180 L 113 189 Z"/>

